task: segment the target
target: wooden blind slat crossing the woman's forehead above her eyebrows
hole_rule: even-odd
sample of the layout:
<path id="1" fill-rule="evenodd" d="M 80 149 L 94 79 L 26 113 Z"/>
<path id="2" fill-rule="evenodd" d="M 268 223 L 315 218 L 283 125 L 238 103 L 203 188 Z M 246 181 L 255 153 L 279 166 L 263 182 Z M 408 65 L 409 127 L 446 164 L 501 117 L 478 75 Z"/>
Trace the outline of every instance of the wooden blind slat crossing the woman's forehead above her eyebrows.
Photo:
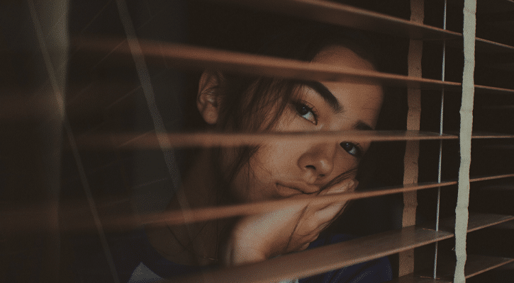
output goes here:
<path id="1" fill-rule="evenodd" d="M 379 71 L 365 71 L 328 64 L 303 62 L 240 52 L 213 50 L 191 45 L 152 42 L 140 40 L 140 47 L 148 64 L 157 62 L 186 69 L 221 69 L 237 74 L 273 76 L 277 78 L 304 79 L 315 81 L 352 81 L 353 83 L 375 83 L 387 86 L 408 88 L 458 88 L 461 83 L 439 81 L 386 74 Z M 78 38 L 74 45 L 83 51 L 104 52 L 106 54 L 130 55 L 127 42 L 118 39 Z"/>

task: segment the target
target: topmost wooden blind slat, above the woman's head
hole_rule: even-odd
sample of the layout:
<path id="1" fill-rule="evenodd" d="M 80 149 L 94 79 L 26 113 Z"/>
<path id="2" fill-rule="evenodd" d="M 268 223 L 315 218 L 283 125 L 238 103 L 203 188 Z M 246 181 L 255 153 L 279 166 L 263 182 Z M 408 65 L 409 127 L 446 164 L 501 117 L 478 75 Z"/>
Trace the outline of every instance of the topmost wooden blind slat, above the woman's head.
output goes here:
<path id="1" fill-rule="evenodd" d="M 244 5 L 276 13 L 330 23 L 360 30 L 369 30 L 412 39 L 442 40 L 461 37 L 459 33 L 435 28 L 423 23 L 367 11 L 345 4 L 319 0 L 217 0 L 230 4 Z"/>

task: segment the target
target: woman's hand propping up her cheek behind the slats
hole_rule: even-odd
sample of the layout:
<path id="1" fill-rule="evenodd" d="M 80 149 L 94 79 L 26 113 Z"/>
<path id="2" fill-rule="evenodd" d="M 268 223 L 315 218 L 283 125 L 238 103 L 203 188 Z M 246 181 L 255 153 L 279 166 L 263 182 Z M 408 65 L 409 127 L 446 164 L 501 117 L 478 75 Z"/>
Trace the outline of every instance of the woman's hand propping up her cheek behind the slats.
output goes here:
<path id="1" fill-rule="evenodd" d="M 351 192 L 357 183 L 357 180 L 346 180 L 318 195 Z M 224 263 L 241 265 L 305 250 L 342 213 L 345 204 L 293 204 L 274 212 L 244 217 L 235 224 L 228 239 Z"/>

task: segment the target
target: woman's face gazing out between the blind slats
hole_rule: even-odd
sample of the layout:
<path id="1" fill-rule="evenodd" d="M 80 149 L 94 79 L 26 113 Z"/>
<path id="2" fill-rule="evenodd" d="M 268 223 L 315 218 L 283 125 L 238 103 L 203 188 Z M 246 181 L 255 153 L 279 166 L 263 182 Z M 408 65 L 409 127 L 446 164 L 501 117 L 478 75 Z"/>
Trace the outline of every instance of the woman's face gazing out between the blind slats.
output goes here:
<path id="1" fill-rule="evenodd" d="M 341 46 L 325 47 L 313 62 L 372 70 L 372 65 Z M 374 129 L 382 103 L 380 86 L 348 82 L 313 82 L 298 88 L 274 130 L 278 132 Z M 240 202 L 281 199 L 320 192 L 355 169 L 369 142 L 352 140 L 315 143 L 277 141 L 263 144 L 236 173 L 231 186 Z M 230 164 L 234 154 L 223 154 Z M 228 167 L 228 166 L 227 166 Z M 340 180 L 340 179 L 337 179 Z M 335 184 L 337 186 L 337 184 Z"/>

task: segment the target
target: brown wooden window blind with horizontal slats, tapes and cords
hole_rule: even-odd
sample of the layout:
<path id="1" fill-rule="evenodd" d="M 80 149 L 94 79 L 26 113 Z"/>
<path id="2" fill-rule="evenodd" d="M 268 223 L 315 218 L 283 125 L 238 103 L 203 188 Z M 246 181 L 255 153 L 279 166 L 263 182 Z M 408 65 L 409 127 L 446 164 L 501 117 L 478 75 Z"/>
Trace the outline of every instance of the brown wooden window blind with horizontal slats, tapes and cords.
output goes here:
<path id="1" fill-rule="evenodd" d="M 22 266 L 5 265 L 6 278 L 16 268 L 28 268 L 24 266 L 37 261 L 33 258 L 44 262 L 41 274 L 62 281 L 71 278 L 72 275 L 62 271 L 65 270 L 62 261 L 67 259 L 62 252 L 65 250 L 62 234 L 96 233 L 98 240 L 94 243 L 104 250 L 103 264 L 117 282 L 117 267 L 110 255 L 112 243 L 108 242 L 106 233 L 164 220 L 188 224 L 259 214 L 292 202 L 343 202 L 398 193 L 404 194 L 403 216 L 396 214 L 403 219 L 403 225 L 398 222 L 396 226 L 402 228 L 389 227 L 389 231 L 331 246 L 169 280 L 274 282 L 398 254 L 397 258 L 391 257 L 396 261 L 393 267 L 397 278 L 393 281 L 397 282 L 464 282 L 473 280 L 475 275 L 479 279 L 488 274 L 496 279 L 502 274 L 512 275 L 512 267 L 510 271 L 508 268 L 514 262 L 514 250 L 501 251 L 484 243 L 488 235 L 508 243 L 505 235 L 512 235 L 509 225 L 514 221 L 509 206 L 513 200 L 509 197 L 513 197 L 514 164 L 509 156 L 512 157 L 514 132 L 508 122 L 513 118 L 514 85 L 510 78 L 514 42 L 509 37 L 513 33 L 512 20 L 505 16 L 514 13 L 512 1 L 495 0 L 486 4 L 469 0 L 464 3 L 412 0 L 391 3 L 398 6 L 401 14 L 394 16 L 388 14 L 391 8 L 359 6 L 352 1 L 349 4 L 316 0 L 208 2 L 406 40 L 405 45 L 410 46 L 404 54 L 408 71 L 394 74 L 335 69 L 323 64 L 184 44 L 181 41 L 186 35 L 181 29 L 188 20 L 184 18 L 187 13 L 181 1 L 166 4 L 55 1 L 36 5 L 29 0 L 26 4 L 3 4 L 4 11 L 24 15 L 19 19 L 8 18 L 9 23 L 23 22 L 34 34 L 23 37 L 15 32 L 5 33 L 2 39 L 11 40 L 3 48 L 4 61 L 9 64 L 2 74 L 8 93 L 1 97 L 5 126 L 2 132 L 4 137 L 12 137 L 3 141 L 7 150 L 1 155 L 3 167 L 8 168 L 2 203 L 5 216 L 1 221 L 6 227 L 2 245 L 9 246 L 6 248 L 9 252 L 3 255 L 3 260 L 8 262 L 14 255 L 20 258 L 18 265 Z M 402 13 L 401 7 L 409 13 Z M 82 11 L 84 15 L 74 18 Z M 69 14 L 72 17 L 67 18 Z M 157 27 L 169 28 L 164 33 Z M 152 33 L 164 38 L 152 39 Z M 150 39 L 140 34 L 150 34 Z M 69 40 L 67 35 L 71 37 Z M 23 40 L 33 47 L 16 50 L 23 46 Z M 38 64 L 26 66 L 30 61 L 23 59 L 24 54 L 38 58 Z M 428 61 L 435 57 L 441 65 Z M 178 127 L 180 116 L 186 113 L 179 106 L 180 95 L 162 98 L 160 93 L 185 92 L 181 89 L 178 70 L 203 69 L 286 79 L 352 79 L 401 89 L 408 101 L 406 127 L 308 134 L 169 131 Z M 20 77 L 29 78 L 33 85 L 23 83 Z M 163 112 L 162 108 L 169 105 L 173 110 Z M 337 141 L 342 135 L 355 141 L 405 141 L 405 151 L 401 152 L 405 154 L 403 183 L 302 200 L 176 212 L 130 212 L 138 210 L 138 200 L 147 198 L 148 194 L 168 197 L 169 192 L 155 189 L 157 186 L 153 191 L 145 190 L 149 185 L 169 188 L 169 183 L 179 182 L 176 163 L 180 156 L 174 155 L 176 148 L 253 145 L 298 138 L 312 142 Z M 164 162 L 161 161 L 164 173 L 150 172 L 144 165 L 124 164 L 133 158 L 143 164 L 152 162 L 147 156 L 164 156 Z M 133 180 L 140 183 L 134 185 Z M 82 187 L 84 193 L 78 197 L 77 192 L 69 192 L 67 187 Z M 506 202 L 498 202 L 495 194 Z M 156 207 L 163 205 L 163 201 L 152 201 Z M 498 205 L 487 202 L 498 202 Z M 449 217 L 440 219 L 440 214 Z M 33 233 L 44 236 L 42 243 L 30 249 L 25 245 L 34 238 Z M 504 236 L 495 236 L 502 233 Z M 24 238 L 17 238 L 19 235 Z M 467 250 L 476 254 L 466 253 L 466 245 Z M 457 263 L 448 256 L 452 253 Z M 486 272 L 497 267 L 503 270 Z"/>

